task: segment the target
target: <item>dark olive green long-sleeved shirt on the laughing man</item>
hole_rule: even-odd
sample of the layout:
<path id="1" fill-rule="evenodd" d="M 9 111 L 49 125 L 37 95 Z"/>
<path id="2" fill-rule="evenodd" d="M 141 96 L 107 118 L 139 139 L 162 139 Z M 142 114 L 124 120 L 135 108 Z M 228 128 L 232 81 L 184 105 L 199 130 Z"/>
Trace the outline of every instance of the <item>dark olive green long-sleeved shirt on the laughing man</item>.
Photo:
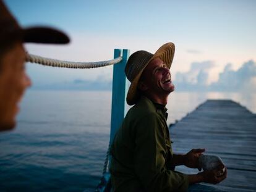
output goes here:
<path id="1" fill-rule="evenodd" d="M 114 191 L 187 191 L 187 175 L 174 171 L 167 109 L 142 96 L 111 146 Z"/>

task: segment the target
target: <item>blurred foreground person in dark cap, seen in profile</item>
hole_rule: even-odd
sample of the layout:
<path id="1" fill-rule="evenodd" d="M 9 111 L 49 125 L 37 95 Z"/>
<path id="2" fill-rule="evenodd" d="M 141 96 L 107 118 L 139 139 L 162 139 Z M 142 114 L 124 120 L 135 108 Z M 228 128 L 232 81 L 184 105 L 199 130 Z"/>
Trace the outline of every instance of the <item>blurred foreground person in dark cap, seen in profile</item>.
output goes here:
<path id="1" fill-rule="evenodd" d="M 21 28 L 0 0 L 0 131 L 15 127 L 20 99 L 31 85 L 23 43 L 66 44 L 69 38 L 53 28 Z"/>

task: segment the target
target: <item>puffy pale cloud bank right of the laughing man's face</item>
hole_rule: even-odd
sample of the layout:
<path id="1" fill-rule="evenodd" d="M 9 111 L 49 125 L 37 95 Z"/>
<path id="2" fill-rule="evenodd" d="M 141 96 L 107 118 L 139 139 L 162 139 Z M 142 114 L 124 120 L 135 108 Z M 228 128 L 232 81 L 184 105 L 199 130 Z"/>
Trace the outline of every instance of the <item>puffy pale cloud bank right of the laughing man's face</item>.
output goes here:
<path id="1" fill-rule="evenodd" d="M 256 62 L 245 62 L 238 70 L 227 64 L 219 74 L 218 81 L 207 84 L 213 62 L 192 63 L 189 72 L 176 73 L 177 91 L 256 91 Z"/>

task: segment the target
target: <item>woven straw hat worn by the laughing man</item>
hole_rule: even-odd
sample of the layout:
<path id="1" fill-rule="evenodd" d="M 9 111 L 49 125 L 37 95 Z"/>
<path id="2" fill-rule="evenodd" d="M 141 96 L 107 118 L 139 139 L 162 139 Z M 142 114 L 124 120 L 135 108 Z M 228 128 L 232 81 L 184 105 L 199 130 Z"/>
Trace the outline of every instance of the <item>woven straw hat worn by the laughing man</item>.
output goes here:
<path id="1" fill-rule="evenodd" d="M 170 69 L 173 62 L 175 46 L 173 43 L 163 44 L 155 54 L 147 51 L 137 51 L 132 54 L 126 64 L 126 77 L 131 82 L 127 93 L 127 104 L 130 106 L 135 104 L 139 99 L 137 85 L 143 70 L 153 59 L 160 58 L 164 64 Z"/>

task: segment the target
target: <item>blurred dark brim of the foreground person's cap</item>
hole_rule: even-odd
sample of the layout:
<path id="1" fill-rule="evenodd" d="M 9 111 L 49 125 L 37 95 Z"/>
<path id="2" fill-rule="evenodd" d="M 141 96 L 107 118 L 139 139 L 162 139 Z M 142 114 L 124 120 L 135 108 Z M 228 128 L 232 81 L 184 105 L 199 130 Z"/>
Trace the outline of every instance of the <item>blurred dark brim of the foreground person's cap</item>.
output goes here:
<path id="1" fill-rule="evenodd" d="M 69 43 L 69 37 L 62 31 L 49 27 L 23 28 L 22 41 L 26 43 Z"/>

